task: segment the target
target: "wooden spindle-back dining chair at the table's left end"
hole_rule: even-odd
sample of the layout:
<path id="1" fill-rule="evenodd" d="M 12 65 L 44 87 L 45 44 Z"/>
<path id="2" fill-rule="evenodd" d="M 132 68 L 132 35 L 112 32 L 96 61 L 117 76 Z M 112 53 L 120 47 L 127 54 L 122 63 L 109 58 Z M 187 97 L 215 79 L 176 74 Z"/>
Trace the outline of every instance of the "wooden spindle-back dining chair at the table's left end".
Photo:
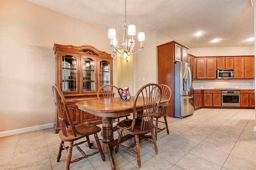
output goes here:
<path id="1" fill-rule="evenodd" d="M 59 131 L 59 137 L 61 141 L 60 141 L 60 147 L 59 147 L 58 156 L 57 156 L 57 162 L 60 161 L 62 150 L 66 150 L 66 152 L 68 153 L 67 160 L 66 160 L 66 170 L 69 170 L 69 166 L 71 163 L 87 158 L 88 156 L 97 154 L 98 152 L 100 152 L 101 158 L 105 162 L 105 156 L 102 152 L 102 147 L 100 145 L 100 141 L 97 135 L 97 133 L 100 132 L 101 130 L 100 127 L 88 121 L 74 125 L 70 117 L 67 102 L 59 86 L 57 84 L 54 84 L 54 86 L 52 87 L 52 90 L 54 93 L 55 104 L 57 108 L 57 115 L 58 115 L 60 128 L 61 128 L 61 130 Z M 92 135 L 92 134 L 94 134 L 94 138 L 98 146 L 98 151 L 92 152 L 90 154 L 85 154 L 85 152 L 78 145 L 87 142 L 88 147 L 91 149 L 89 135 Z M 74 141 L 77 141 L 78 139 L 82 139 L 84 137 L 86 137 L 85 141 L 80 141 L 74 144 Z M 69 142 L 69 145 L 66 147 L 64 145 L 64 142 Z M 81 152 L 83 156 L 78 157 L 71 161 L 73 146 L 76 146 L 76 148 Z"/>

